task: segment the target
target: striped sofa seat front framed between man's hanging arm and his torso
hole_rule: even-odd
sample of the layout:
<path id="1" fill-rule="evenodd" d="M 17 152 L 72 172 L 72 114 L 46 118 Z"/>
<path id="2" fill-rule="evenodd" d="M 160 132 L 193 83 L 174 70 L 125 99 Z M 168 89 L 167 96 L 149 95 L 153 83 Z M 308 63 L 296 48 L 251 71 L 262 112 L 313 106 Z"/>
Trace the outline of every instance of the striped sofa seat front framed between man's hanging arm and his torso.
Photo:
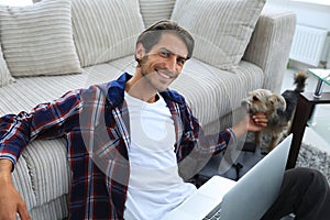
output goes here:
<path id="1" fill-rule="evenodd" d="M 22 156 L 30 169 L 37 206 L 69 193 L 72 176 L 64 139 L 33 141 Z"/>

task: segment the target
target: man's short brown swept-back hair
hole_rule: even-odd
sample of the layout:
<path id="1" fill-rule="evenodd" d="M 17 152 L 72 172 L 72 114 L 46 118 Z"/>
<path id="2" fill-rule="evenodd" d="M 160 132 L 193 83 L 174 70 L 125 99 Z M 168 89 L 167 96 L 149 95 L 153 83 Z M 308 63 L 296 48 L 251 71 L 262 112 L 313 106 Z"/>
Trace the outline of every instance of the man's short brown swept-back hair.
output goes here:
<path id="1" fill-rule="evenodd" d="M 163 33 L 170 33 L 182 38 L 188 50 L 187 59 L 191 57 L 195 44 L 194 37 L 184 28 L 168 20 L 158 21 L 144 30 L 138 37 L 136 45 L 141 43 L 145 50 L 145 53 L 148 53 L 152 47 L 160 42 Z"/>

